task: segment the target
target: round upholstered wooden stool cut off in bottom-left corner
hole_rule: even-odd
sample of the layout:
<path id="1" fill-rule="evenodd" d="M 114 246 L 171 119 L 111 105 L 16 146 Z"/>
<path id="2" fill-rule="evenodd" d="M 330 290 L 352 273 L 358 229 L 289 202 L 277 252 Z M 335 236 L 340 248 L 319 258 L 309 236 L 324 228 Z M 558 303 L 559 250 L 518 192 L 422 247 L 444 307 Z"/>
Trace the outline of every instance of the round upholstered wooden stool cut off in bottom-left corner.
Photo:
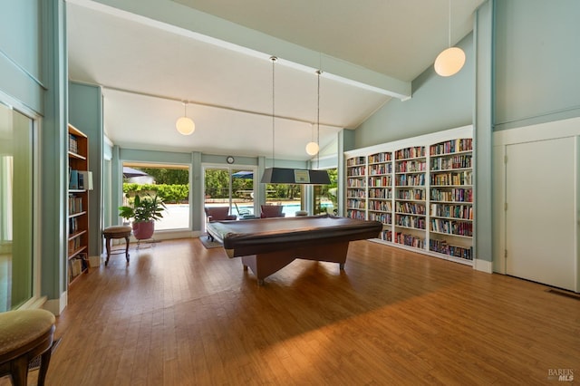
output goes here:
<path id="1" fill-rule="evenodd" d="M 0 376 L 10 374 L 15 386 L 25 386 L 28 362 L 42 355 L 38 385 L 44 384 L 53 346 L 54 315 L 46 310 L 0 313 Z"/>

